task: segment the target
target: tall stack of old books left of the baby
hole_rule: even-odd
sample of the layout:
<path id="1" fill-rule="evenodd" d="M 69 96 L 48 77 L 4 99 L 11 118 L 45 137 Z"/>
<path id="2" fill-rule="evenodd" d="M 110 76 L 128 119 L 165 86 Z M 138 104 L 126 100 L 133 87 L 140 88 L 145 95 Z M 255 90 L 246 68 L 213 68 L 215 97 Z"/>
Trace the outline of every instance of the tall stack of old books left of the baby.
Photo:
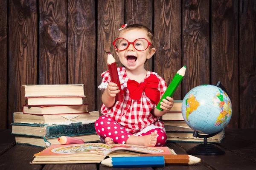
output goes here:
<path id="1" fill-rule="evenodd" d="M 83 104 L 84 85 L 24 85 L 26 105 L 13 113 L 12 134 L 17 144 L 48 147 L 58 137 L 98 142 L 94 122 L 99 111 Z"/>

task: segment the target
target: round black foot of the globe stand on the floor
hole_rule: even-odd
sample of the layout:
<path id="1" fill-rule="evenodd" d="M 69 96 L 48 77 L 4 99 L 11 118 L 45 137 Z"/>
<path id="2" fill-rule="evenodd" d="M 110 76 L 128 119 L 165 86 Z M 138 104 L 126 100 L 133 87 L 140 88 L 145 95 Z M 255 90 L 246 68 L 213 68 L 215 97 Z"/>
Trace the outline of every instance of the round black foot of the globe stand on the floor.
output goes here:
<path id="1" fill-rule="evenodd" d="M 190 155 L 218 156 L 224 155 L 225 151 L 213 144 L 201 143 L 187 150 L 187 153 Z"/>

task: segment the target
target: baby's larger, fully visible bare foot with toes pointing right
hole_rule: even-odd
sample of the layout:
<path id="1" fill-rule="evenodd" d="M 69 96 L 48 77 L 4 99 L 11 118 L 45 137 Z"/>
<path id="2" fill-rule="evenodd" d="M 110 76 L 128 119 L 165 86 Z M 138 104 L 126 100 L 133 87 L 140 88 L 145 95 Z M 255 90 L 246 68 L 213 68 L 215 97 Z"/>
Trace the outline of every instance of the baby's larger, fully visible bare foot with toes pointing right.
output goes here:
<path id="1" fill-rule="evenodd" d="M 125 143 L 154 147 L 157 144 L 157 132 L 152 132 L 150 135 L 145 135 L 145 136 L 132 135 L 127 139 Z"/>

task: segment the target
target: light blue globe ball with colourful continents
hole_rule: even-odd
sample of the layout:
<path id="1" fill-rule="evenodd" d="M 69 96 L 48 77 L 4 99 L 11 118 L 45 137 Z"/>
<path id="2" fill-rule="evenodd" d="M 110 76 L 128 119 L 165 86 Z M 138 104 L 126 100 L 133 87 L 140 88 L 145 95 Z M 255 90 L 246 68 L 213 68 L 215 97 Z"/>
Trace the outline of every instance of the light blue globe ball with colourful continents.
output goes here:
<path id="1" fill-rule="evenodd" d="M 221 88 L 199 85 L 184 97 L 182 116 L 187 125 L 199 133 L 217 133 L 230 122 L 232 104 Z"/>

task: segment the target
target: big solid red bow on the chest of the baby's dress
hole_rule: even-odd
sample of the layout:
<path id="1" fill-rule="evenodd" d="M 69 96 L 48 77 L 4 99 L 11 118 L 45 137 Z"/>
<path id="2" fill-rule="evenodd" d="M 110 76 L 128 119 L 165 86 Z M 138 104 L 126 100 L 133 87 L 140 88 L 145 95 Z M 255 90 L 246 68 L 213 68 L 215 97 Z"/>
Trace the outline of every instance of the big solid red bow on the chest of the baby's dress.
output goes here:
<path id="1" fill-rule="evenodd" d="M 145 95 L 157 104 L 160 100 L 160 91 L 157 89 L 158 83 L 157 76 L 153 74 L 141 83 L 128 79 L 127 88 L 131 99 L 139 100 L 142 92 L 145 91 Z"/>

